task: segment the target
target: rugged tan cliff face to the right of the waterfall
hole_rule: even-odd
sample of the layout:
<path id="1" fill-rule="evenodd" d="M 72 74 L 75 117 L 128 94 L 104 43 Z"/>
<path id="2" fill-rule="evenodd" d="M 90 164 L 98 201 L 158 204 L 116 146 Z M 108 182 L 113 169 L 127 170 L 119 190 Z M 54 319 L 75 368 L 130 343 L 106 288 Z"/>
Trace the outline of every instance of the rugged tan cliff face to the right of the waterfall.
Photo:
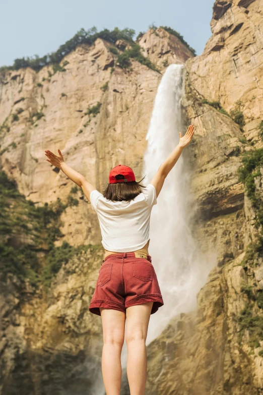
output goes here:
<path id="1" fill-rule="evenodd" d="M 217 1 L 212 37 L 185 64 L 185 118 L 197 131 L 189 147 L 201 208 L 194 232 L 202 248 L 215 246 L 218 264 L 197 311 L 175 317 L 149 345 L 147 393 L 263 393 L 262 161 L 255 195 L 237 176 L 242 153 L 254 158 L 263 145 L 262 16 L 262 2 Z"/>

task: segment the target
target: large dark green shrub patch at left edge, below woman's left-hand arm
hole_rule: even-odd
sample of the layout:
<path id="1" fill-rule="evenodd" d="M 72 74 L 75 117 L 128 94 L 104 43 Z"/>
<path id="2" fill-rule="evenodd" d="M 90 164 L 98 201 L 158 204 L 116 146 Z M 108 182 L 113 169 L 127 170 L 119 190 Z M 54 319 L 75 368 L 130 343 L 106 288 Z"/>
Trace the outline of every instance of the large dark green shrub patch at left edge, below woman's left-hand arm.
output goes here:
<path id="1" fill-rule="evenodd" d="M 75 189 L 72 188 L 73 193 Z M 68 207 L 58 198 L 55 202 L 35 207 L 17 189 L 17 184 L 0 172 L 0 276 L 6 280 L 11 273 L 21 281 L 47 289 L 52 277 L 62 264 L 67 264 L 73 255 L 97 246 L 73 247 L 63 242 L 55 247 L 54 242 L 63 236 L 59 230 L 60 215 Z M 41 263 L 38 252 L 44 253 Z"/>

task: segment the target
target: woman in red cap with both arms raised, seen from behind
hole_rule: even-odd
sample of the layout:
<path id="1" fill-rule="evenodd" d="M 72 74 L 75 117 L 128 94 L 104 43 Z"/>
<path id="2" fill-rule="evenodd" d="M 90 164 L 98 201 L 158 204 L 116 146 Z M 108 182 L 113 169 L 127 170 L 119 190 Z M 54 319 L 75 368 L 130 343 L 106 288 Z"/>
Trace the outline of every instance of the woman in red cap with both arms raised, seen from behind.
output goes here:
<path id="1" fill-rule="evenodd" d="M 59 149 L 58 156 L 45 151 L 46 160 L 82 188 L 99 218 L 105 255 L 89 310 L 102 320 L 102 376 L 107 395 L 120 393 L 125 320 L 130 394 L 145 392 L 149 319 L 164 304 L 148 252 L 150 214 L 165 178 L 193 133 L 193 125 L 184 136 L 179 132 L 178 145 L 146 187 L 135 181 L 130 167 L 118 165 L 110 171 L 103 194 L 63 161 Z"/>

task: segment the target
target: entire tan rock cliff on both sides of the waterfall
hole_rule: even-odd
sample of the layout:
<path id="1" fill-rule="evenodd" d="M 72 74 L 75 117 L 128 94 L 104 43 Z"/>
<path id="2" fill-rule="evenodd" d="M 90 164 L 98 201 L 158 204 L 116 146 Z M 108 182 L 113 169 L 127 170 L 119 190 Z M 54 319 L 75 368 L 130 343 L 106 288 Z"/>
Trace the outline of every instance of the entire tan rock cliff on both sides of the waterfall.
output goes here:
<path id="1" fill-rule="evenodd" d="M 161 72 L 170 63 L 185 63 L 182 104 L 185 125 L 196 126 L 188 158 L 200 207 L 193 232 L 202 250 L 213 245 L 218 253 L 217 267 L 198 294 L 198 310 L 175 317 L 148 346 L 146 393 L 263 393 L 263 262 L 260 253 L 248 253 L 260 227 L 237 176 L 242 154 L 262 147 L 262 12 L 259 0 L 216 1 L 213 35 L 199 57 L 161 28 L 139 40 Z M 1 165 L 36 206 L 67 199 L 73 186 L 44 160 L 47 148 L 59 148 L 99 190 L 118 163 L 133 167 L 140 180 L 161 73 L 135 61 L 133 70 L 117 67 L 110 46 L 102 39 L 80 45 L 55 73 L 28 68 L 2 77 Z M 260 199 L 262 177 L 261 166 L 253 178 Z M 96 215 L 79 190 L 75 196 L 79 204 L 62 212 L 63 236 L 56 245 L 99 244 Z M 21 387 L 27 394 L 95 391 L 101 324 L 87 308 L 102 254 L 98 248 L 72 258 L 47 294 L 24 289 L 13 277 L 2 284 L 3 395 Z"/>

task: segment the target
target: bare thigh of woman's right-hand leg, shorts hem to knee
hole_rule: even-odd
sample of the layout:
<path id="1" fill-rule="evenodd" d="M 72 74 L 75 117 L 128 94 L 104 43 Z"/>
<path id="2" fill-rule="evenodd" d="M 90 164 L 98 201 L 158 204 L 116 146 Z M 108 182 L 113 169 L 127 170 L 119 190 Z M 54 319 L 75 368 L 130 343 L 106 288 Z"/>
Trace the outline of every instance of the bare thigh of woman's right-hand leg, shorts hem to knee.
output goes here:
<path id="1" fill-rule="evenodd" d="M 126 308 L 125 341 L 127 344 L 138 338 L 146 340 L 153 303 L 142 303 Z"/>

